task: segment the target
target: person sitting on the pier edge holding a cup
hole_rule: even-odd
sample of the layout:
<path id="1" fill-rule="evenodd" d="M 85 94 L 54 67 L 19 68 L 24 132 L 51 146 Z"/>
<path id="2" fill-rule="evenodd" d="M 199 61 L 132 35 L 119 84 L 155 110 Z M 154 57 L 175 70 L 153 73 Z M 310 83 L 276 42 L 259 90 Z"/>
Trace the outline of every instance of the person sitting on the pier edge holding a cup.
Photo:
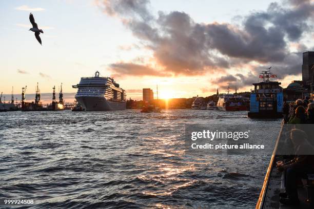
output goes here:
<path id="1" fill-rule="evenodd" d="M 295 147 L 295 157 L 287 163 L 277 165 L 280 172 L 285 171 L 286 192 L 279 196 L 282 204 L 298 205 L 297 180 L 314 172 L 314 147 L 302 130 L 292 129 L 290 139 Z"/>

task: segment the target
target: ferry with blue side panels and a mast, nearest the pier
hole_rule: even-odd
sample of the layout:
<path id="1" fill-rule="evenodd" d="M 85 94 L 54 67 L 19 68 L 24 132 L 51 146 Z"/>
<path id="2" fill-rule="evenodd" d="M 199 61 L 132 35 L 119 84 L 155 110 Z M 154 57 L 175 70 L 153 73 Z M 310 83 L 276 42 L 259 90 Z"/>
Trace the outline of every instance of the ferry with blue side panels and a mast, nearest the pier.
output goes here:
<path id="1" fill-rule="evenodd" d="M 270 68 L 260 73 L 259 78 L 263 78 L 263 81 L 252 83 L 254 90 L 251 91 L 250 96 L 248 112 L 250 118 L 283 117 L 283 89 L 279 86 L 281 82 L 269 80 L 277 77 L 270 72 Z"/>

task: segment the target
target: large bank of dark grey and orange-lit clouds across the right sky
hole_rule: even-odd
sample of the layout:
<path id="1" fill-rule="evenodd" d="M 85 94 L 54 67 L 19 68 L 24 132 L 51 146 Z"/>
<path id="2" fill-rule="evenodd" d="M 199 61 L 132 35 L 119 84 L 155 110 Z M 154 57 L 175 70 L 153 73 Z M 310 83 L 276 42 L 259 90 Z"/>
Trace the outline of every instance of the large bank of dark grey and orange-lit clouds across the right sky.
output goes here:
<path id="1" fill-rule="evenodd" d="M 314 16 L 314 4 L 300 0 L 271 3 L 267 11 L 243 17 L 240 25 L 195 23 L 179 11 L 154 16 L 148 0 L 105 0 L 99 6 L 120 18 L 160 66 L 117 62 L 110 65 L 115 75 L 194 76 L 219 71 L 226 75 L 212 83 L 237 83 L 238 87 L 256 81 L 257 73 L 269 66 L 280 78 L 299 74 L 302 52 L 309 49 L 298 41 L 311 33 Z M 289 51 L 291 43 L 300 46 L 299 52 Z M 229 68 L 241 69 L 253 60 L 262 67 L 252 68 L 248 75 L 228 73 Z"/>

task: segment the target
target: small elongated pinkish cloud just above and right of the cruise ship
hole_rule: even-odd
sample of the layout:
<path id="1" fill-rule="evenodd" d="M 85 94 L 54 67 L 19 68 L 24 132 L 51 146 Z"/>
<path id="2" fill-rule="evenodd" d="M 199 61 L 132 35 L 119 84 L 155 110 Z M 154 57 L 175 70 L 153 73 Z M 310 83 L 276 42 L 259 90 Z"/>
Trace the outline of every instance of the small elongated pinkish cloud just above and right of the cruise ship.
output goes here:
<path id="1" fill-rule="evenodd" d="M 124 76 L 169 76 L 168 73 L 155 70 L 149 66 L 133 64 L 131 62 L 118 62 L 109 66 L 112 77 L 124 77 Z"/>

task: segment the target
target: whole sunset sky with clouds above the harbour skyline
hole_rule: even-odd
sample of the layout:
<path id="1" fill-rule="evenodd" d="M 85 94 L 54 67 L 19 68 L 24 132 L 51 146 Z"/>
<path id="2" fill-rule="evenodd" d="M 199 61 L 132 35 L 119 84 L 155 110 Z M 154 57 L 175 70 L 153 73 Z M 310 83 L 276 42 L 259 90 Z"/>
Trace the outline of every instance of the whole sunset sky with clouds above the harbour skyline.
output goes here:
<path id="1" fill-rule="evenodd" d="M 113 77 L 127 97 L 249 91 L 261 70 L 285 88 L 313 50 L 313 1 L 1 1 L 0 92 L 42 93 L 63 83 L 74 100 L 82 76 Z M 43 46 L 29 31 L 32 12 Z"/>

